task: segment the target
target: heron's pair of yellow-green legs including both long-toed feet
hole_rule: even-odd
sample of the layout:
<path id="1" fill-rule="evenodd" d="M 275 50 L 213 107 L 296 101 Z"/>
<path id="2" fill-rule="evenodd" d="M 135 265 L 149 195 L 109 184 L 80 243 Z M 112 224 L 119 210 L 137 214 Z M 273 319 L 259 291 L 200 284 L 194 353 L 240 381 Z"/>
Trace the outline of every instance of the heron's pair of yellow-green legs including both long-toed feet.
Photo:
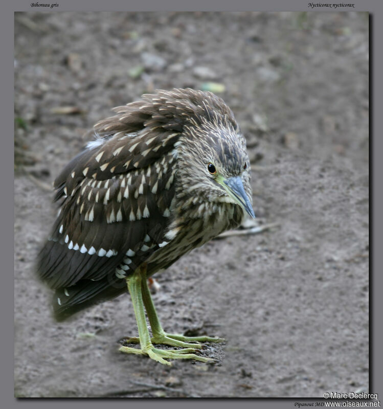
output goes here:
<path id="1" fill-rule="evenodd" d="M 185 343 L 184 339 L 179 338 L 189 339 L 188 337 L 183 337 L 182 335 L 169 335 L 166 334 L 162 329 L 146 282 L 146 268 L 137 269 L 134 274 L 127 279 L 127 283 L 133 303 L 134 314 L 136 314 L 139 332 L 139 338 L 130 338 L 127 339 L 127 342 L 140 343 L 141 348 L 137 349 L 130 347 L 121 347 L 121 352 L 149 355 L 150 358 L 156 360 L 157 362 L 164 363 L 165 365 L 171 365 L 171 363 L 166 359 L 195 359 L 202 362 L 214 361 L 213 359 L 205 358 L 191 353 L 195 352 L 196 349 L 202 348 L 202 345 Z M 153 332 L 152 338 L 150 338 L 149 331 L 146 326 L 144 305 Z M 219 338 L 210 337 L 192 337 L 189 340 L 198 341 L 202 339 L 204 341 L 212 339 L 215 340 L 215 342 L 217 342 L 217 340 L 221 340 Z M 182 349 L 157 349 L 154 348 L 153 343 L 182 347 Z"/>

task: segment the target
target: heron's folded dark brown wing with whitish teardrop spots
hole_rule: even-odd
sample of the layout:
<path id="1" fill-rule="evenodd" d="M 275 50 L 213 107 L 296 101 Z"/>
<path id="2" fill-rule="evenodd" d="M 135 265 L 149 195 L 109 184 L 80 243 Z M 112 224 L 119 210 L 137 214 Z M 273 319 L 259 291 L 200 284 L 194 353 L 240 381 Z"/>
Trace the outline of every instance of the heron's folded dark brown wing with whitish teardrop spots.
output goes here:
<path id="1" fill-rule="evenodd" d="M 100 280 L 114 274 L 129 250 L 139 254 L 137 264 L 164 241 L 177 139 L 174 132 L 120 135 L 64 169 L 55 183 L 60 212 L 38 265 L 50 287 Z"/>

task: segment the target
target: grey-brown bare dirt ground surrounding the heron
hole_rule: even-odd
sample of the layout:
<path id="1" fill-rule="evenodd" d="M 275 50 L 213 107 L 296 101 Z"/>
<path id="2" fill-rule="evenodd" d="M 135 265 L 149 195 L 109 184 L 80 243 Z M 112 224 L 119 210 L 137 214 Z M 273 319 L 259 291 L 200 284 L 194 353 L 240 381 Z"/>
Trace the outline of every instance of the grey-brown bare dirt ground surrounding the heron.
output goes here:
<path id="1" fill-rule="evenodd" d="M 355 12 L 15 13 L 15 396 L 368 392 L 368 24 Z M 206 351 L 220 365 L 119 353 L 137 334 L 128 295 L 55 323 L 33 271 L 56 212 L 44 187 L 84 132 L 172 87 L 229 104 L 258 221 L 278 224 L 156 276 L 165 329 L 226 338 Z"/>

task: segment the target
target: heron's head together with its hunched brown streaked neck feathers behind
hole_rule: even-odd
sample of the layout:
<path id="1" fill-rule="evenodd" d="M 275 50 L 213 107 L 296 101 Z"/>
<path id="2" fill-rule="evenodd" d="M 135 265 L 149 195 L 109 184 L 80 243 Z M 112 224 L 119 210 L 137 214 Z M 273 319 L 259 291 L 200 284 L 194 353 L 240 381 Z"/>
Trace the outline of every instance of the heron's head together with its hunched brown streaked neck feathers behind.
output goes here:
<path id="1" fill-rule="evenodd" d="M 173 154 L 185 209 L 189 204 L 235 203 L 255 217 L 246 142 L 221 98 L 190 88 L 157 90 L 115 111 L 116 117 L 96 125 L 99 134 L 129 130 L 146 135 L 164 132 L 168 138 L 179 135 Z"/>

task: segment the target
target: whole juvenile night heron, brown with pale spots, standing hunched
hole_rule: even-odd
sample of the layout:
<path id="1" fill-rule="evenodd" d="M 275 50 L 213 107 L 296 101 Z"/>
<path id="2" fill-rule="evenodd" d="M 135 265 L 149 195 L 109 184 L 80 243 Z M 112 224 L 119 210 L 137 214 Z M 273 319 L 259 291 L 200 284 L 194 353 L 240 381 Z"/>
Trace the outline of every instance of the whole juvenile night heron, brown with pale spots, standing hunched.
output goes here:
<path id="1" fill-rule="evenodd" d="M 139 332 L 131 342 L 141 348 L 120 351 L 167 365 L 209 361 L 194 352 L 221 339 L 166 333 L 147 278 L 236 227 L 245 212 L 255 217 L 245 139 L 230 108 L 209 92 L 159 90 L 114 111 L 55 181 L 60 210 L 38 275 L 55 290 L 58 321 L 119 296 L 127 283 Z"/>

